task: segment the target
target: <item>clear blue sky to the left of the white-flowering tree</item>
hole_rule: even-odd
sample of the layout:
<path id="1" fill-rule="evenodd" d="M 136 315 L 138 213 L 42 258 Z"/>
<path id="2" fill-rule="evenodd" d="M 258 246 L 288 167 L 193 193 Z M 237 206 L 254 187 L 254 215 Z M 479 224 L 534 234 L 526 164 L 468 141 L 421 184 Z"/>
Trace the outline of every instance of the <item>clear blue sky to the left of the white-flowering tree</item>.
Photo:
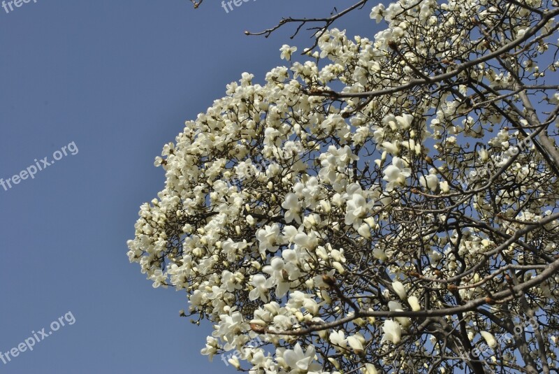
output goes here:
<path id="1" fill-rule="evenodd" d="M 179 317 L 186 294 L 153 289 L 129 264 L 126 240 L 141 203 L 164 185 L 154 157 L 184 121 L 243 71 L 261 79 L 282 64 L 282 44 L 309 43 L 308 34 L 289 41 L 288 29 L 267 39 L 243 31 L 344 4 L 259 0 L 229 13 L 219 1 L 194 10 L 188 0 L 0 8 L 0 178 L 26 178 L 0 186 L 0 352 L 65 322 L 33 351 L 7 364 L 0 357 L 0 373 L 233 373 L 201 356 L 211 326 Z M 368 13 L 342 28 L 372 36 Z M 34 178 L 33 168 L 21 174 L 53 155 Z"/>

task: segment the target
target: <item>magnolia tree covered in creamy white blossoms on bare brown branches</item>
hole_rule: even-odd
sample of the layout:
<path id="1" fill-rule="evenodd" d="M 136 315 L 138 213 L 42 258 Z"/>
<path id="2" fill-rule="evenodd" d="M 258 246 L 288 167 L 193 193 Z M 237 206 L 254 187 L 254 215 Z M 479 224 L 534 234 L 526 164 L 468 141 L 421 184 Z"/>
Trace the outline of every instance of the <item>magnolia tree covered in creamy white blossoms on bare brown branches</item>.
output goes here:
<path id="1" fill-rule="evenodd" d="M 259 33 L 321 22 L 165 145 L 130 261 L 240 371 L 557 373 L 558 1 L 366 3 Z"/>

